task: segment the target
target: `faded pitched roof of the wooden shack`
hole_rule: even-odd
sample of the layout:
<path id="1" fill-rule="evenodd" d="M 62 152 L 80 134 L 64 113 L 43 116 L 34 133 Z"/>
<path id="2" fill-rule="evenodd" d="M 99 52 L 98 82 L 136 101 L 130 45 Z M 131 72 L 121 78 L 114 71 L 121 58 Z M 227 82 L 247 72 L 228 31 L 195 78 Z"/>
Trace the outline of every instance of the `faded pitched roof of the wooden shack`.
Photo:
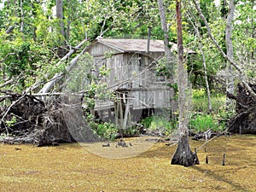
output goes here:
<path id="1" fill-rule="evenodd" d="M 104 44 L 112 49 L 117 49 L 120 52 L 147 52 L 148 39 L 111 39 L 111 38 L 99 38 L 96 39 L 87 49 L 90 49 L 94 44 Z M 165 44 L 163 40 L 150 39 L 149 52 L 165 52 Z M 177 51 L 177 44 L 170 43 L 171 50 Z M 195 51 L 184 48 L 184 52 L 189 54 L 195 54 Z"/>

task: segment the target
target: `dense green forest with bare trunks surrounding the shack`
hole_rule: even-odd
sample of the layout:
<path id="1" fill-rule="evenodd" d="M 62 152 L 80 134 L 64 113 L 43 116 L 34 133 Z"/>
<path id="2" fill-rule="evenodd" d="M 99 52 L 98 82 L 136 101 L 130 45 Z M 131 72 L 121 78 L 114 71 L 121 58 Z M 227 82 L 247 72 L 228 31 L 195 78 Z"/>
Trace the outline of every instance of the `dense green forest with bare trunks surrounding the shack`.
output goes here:
<path id="1" fill-rule="evenodd" d="M 60 108 L 70 99 L 63 102 L 61 93 L 68 86 L 73 94 L 82 93 L 87 107 L 83 116 L 93 128 L 91 132 L 97 133 L 94 136 L 87 130 L 87 141 L 119 137 L 116 125 L 91 113 L 96 96 L 116 98 L 112 93 L 102 94 L 108 84 L 96 84 L 90 73 L 90 55 L 84 54 L 84 49 L 97 38 L 148 38 L 148 28 L 150 38 L 165 42 L 166 57 L 155 69 L 158 75 L 171 79 L 169 86 L 176 93 L 179 108 L 170 109 L 171 115 L 141 119 L 123 135 L 149 130 L 171 136 L 177 127 L 195 138 L 209 130 L 212 135 L 255 133 L 255 10 L 254 0 L 0 1 L 1 139 L 42 146 L 87 137 L 63 128 L 68 125 Z M 196 54 L 185 55 L 177 49 L 176 63 L 172 64 L 168 61 L 169 42 Z M 81 68 L 75 66 L 84 69 L 79 73 Z M 71 73 L 78 75 L 70 80 Z M 78 92 L 73 86 L 83 73 L 90 83 Z M 101 74 L 107 76 L 108 69 L 102 69 Z M 81 120 L 72 114 L 69 111 L 66 116 Z M 169 119 L 162 118 L 168 115 Z"/>

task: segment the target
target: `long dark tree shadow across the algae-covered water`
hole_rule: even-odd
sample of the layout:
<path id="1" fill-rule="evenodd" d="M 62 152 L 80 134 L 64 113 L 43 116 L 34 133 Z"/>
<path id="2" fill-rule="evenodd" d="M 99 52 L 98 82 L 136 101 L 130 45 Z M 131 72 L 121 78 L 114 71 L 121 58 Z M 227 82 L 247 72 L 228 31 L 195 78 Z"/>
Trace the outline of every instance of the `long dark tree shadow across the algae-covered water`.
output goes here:
<path id="1" fill-rule="evenodd" d="M 198 172 L 202 172 L 202 173 L 206 173 L 207 172 L 207 176 L 212 177 L 215 180 L 218 180 L 219 182 L 224 182 L 224 183 L 228 183 L 231 187 L 233 187 L 234 189 L 236 189 L 236 191 L 248 191 L 248 189 L 243 188 L 239 183 L 235 183 L 233 181 L 231 181 L 230 179 L 218 175 L 215 172 L 212 172 L 209 169 L 203 169 L 199 166 L 192 166 L 193 169 L 195 169 Z M 239 167 L 236 169 L 236 171 L 238 171 L 239 169 L 241 169 L 242 167 Z"/>

